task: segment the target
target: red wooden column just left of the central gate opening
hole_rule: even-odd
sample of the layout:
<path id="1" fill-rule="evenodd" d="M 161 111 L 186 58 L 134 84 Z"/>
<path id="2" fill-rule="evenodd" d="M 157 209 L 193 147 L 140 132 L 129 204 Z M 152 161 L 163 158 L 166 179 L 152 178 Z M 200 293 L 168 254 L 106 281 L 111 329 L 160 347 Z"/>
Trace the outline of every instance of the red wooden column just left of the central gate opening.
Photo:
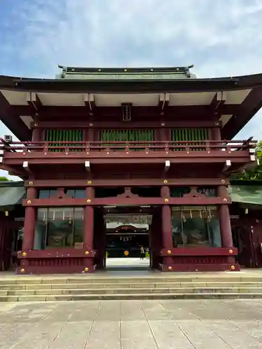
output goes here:
<path id="1" fill-rule="evenodd" d="M 92 251 L 94 244 L 94 207 L 92 206 L 92 198 L 94 198 L 94 188 L 88 186 L 85 190 L 89 205 L 84 209 L 84 246 L 87 250 Z"/>

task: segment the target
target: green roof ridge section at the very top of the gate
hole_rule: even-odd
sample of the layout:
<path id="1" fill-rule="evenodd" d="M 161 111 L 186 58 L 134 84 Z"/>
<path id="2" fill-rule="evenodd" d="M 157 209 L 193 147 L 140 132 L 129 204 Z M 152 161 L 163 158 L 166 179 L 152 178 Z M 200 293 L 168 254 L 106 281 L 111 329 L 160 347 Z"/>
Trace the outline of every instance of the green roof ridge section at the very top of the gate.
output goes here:
<path id="1" fill-rule="evenodd" d="M 67 80 L 177 80 L 196 78 L 193 66 L 169 68 L 77 68 L 59 66 L 58 79 Z"/>

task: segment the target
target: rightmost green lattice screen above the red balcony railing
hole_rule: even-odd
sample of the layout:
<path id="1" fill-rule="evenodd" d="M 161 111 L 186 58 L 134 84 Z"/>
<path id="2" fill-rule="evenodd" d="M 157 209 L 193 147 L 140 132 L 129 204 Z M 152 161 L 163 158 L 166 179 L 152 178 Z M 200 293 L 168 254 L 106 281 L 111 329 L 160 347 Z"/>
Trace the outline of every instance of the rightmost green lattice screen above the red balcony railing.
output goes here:
<path id="1" fill-rule="evenodd" d="M 171 130 L 171 141 L 179 142 L 179 141 L 194 141 L 194 140 L 208 140 L 208 128 L 172 128 Z M 204 143 L 190 143 L 192 145 L 201 145 Z M 180 145 L 178 143 L 177 145 Z M 182 143 L 181 143 L 182 145 Z M 203 148 L 192 148 L 192 150 L 202 150 Z M 182 148 L 177 148 L 177 150 L 183 150 Z"/>

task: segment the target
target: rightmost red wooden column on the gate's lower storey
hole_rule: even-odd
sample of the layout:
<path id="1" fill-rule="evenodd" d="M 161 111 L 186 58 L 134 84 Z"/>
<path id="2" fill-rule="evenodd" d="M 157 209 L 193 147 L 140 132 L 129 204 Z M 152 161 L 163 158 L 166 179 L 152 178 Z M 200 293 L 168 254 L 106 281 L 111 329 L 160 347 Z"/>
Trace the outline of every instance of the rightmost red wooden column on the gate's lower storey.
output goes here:
<path id="1" fill-rule="evenodd" d="M 228 198 L 228 191 L 226 186 L 218 187 L 218 195 L 221 196 L 221 198 Z M 231 221 L 229 207 L 226 204 L 219 206 L 219 225 L 222 247 L 232 247 L 233 238 L 231 231 Z"/>

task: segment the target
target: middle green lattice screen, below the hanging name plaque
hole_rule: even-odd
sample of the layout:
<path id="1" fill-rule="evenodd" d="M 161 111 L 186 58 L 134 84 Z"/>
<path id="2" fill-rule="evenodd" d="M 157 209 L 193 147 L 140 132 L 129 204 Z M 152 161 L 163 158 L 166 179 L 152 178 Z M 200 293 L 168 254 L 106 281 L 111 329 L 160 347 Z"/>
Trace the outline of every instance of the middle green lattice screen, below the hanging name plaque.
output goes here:
<path id="1" fill-rule="evenodd" d="M 110 145 L 110 142 L 143 142 L 154 141 L 154 130 L 101 130 L 100 140 L 103 145 Z M 112 144 L 111 144 L 112 145 Z M 141 143 L 140 145 L 145 145 Z"/>

